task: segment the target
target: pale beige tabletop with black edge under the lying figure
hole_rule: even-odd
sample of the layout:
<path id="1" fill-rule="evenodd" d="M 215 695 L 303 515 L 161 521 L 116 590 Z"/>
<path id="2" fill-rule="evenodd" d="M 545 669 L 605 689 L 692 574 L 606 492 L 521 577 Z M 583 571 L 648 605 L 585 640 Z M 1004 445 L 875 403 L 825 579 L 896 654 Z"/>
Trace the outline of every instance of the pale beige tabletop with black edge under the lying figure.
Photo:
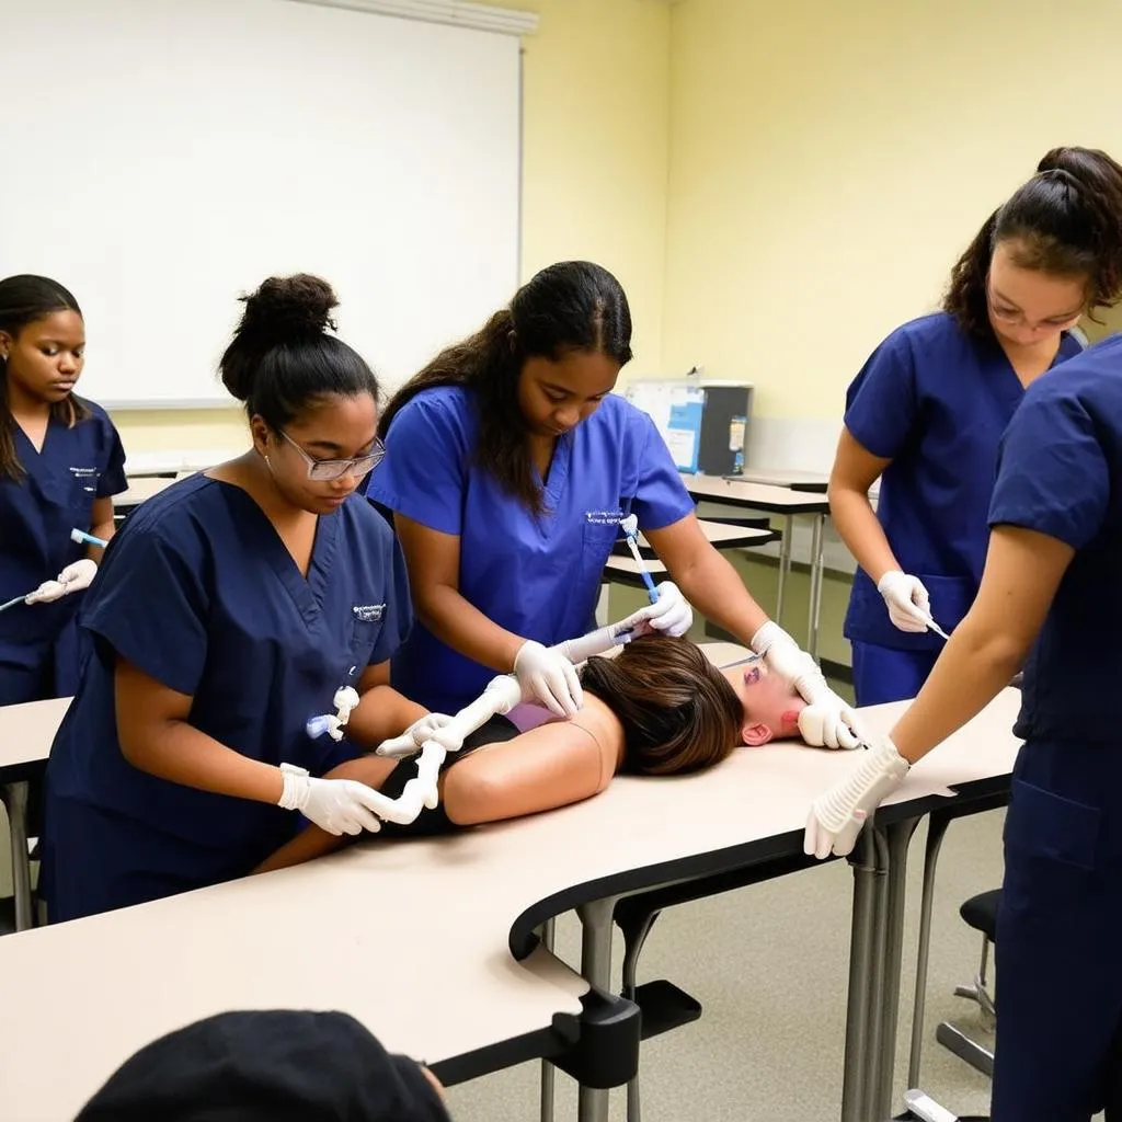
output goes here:
<path id="1" fill-rule="evenodd" d="M 1008 776 L 1019 699 L 1004 691 L 890 801 Z M 865 710 L 871 730 L 905 705 Z M 793 743 L 744 748 L 696 775 L 619 778 L 551 813 L 375 837 L 298 868 L 7 936 L 0 977 L 18 1013 L 0 1027 L 0 1116 L 72 1116 L 141 1045 L 221 1010 L 342 1009 L 430 1063 L 548 1031 L 553 1013 L 579 1011 L 586 984 L 541 949 L 518 963 L 508 947 L 530 949 L 534 927 L 579 903 L 801 852 L 810 800 L 853 765 L 850 753 Z"/>

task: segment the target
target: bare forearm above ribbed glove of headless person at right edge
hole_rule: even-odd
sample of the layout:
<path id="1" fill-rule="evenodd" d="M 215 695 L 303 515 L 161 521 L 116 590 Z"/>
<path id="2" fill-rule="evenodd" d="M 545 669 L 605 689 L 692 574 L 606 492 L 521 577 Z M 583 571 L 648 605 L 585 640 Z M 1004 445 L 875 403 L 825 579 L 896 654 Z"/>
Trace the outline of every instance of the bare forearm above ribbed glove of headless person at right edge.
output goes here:
<path id="1" fill-rule="evenodd" d="M 910 763 L 976 717 L 1020 669 L 1024 650 L 967 617 L 955 628 L 919 696 L 889 734 Z"/>

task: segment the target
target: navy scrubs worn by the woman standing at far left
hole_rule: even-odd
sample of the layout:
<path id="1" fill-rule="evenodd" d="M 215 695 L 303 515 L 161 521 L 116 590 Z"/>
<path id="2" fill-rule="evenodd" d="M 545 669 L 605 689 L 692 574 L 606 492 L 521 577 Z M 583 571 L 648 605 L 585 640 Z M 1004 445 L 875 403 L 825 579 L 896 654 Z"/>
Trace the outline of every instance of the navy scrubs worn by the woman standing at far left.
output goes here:
<path id="1" fill-rule="evenodd" d="M 0 603 L 34 591 L 84 558 L 89 546 L 71 541 L 71 531 L 89 532 L 94 500 L 119 495 L 128 486 L 117 429 L 100 405 L 79 401 L 90 416 L 73 425 L 52 417 L 39 451 L 13 425 L 24 475 L 0 478 Z M 83 595 L 0 613 L 0 675 L 33 682 L 36 665 L 49 660 L 50 646 L 67 629 Z M 76 687 L 75 673 L 57 683 L 64 695 Z M 10 693 L 0 682 L 3 703 L 37 699 Z"/>

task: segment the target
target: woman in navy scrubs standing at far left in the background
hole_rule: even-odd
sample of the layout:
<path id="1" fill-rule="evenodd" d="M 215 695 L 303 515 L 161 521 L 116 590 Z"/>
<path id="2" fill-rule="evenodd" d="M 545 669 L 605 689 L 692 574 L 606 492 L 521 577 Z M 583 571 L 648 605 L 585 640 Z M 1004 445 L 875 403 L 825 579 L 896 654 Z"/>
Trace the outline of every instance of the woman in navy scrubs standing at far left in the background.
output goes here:
<path id="1" fill-rule="evenodd" d="M 0 280 L 0 705 L 77 688 L 74 615 L 108 541 L 125 450 L 104 410 L 74 393 L 85 362 L 77 301 L 55 280 Z M 44 586 L 40 588 L 40 586 Z"/>

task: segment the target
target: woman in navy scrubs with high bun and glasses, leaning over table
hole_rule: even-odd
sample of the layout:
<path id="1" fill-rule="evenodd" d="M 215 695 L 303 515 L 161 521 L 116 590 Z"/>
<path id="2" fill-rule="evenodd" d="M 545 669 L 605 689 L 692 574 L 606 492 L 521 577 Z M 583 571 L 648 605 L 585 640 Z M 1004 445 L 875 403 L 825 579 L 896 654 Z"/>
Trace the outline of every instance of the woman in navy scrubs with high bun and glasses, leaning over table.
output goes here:
<path id="1" fill-rule="evenodd" d="M 221 370 L 251 449 L 149 499 L 107 550 L 80 616 L 93 654 L 47 765 L 52 922 L 245 875 L 300 812 L 377 829 L 370 788 L 328 773 L 440 723 L 388 684 L 408 587 L 355 494 L 383 451 L 378 386 L 327 333 L 334 303 L 307 276 L 247 298 Z M 360 696 L 346 735 L 315 737 L 343 687 Z"/>

